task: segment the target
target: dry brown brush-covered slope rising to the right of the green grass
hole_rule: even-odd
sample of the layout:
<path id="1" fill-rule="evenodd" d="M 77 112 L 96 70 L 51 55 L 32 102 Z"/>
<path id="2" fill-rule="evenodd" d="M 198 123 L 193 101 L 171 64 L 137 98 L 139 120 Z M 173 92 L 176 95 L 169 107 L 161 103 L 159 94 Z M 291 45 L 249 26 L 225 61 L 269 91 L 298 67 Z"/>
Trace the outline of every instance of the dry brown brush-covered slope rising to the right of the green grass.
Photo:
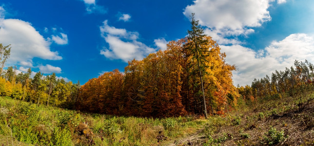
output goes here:
<path id="1" fill-rule="evenodd" d="M 268 97 L 240 106 L 225 117 L 216 117 L 203 130 L 203 146 L 308 146 L 314 145 L 314 94 L 307 91 L 309 104 L 298 110 L 299 96 Z M 211 120 L 211 119 L 210 119 Z M 196 144 L 196 143 L 195 143 Z"/>

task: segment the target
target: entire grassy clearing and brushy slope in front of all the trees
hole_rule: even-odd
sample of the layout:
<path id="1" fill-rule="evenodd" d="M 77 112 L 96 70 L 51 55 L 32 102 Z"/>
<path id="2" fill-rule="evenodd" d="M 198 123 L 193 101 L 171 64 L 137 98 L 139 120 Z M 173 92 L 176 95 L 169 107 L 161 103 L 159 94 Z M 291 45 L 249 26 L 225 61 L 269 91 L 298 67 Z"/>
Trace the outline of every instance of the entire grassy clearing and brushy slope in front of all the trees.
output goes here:
<path id="1" fill-rule="evenodd" d="M 313 86 L 244 101 L 225 115 L 138 118 L 83 113 L 0 97 L 0 145 L 313 145 Z M 301 97 L 301 98 L 300 98 Z M 304 104 L 299 108 L 298 101 Z"/>

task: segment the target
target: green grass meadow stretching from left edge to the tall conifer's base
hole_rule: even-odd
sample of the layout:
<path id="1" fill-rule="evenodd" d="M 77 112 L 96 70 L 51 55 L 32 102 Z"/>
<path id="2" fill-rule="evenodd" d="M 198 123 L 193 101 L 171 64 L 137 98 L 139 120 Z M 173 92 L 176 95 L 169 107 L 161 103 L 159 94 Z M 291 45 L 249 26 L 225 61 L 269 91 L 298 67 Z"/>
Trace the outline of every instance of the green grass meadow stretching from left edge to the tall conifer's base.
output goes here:
<path id="1" fill-rule="evenodd" d="M 206 123 L 194 117 L 84 113 L 0 97 L 0 146 L 157 146 L 194 133 Z M 167 138 L 157 143 L 157 136 Z"/>

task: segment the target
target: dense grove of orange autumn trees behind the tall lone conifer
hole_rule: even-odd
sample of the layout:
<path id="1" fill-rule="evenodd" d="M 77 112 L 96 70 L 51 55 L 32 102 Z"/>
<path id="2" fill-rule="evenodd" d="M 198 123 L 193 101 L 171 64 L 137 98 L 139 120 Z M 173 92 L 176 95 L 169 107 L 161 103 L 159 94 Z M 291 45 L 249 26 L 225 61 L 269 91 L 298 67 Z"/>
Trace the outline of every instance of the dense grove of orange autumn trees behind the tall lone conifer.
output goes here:
<path id="1" fill-rule="evenodd" d="M 225 54 L 211 37 L 204 88 L 208 109 L 222 114 L 236 104 L 237 92 L 232 82 L 234 66 L 225 63 Z M 129 61 L 124 73 L 118 70 L 90 79 L 80 89 L 77 109 L 116 115 L 171 117 L 202 114 L 196 61 L 183 48 L 187 38 L 170 41 L 165 51 L 143 60 Z M 232 96 L 233 99 L 228 99 Z M 212 99 L 210 104 L 209 99 Z M 212 106 L 213 105 L 213 106 Z M 230 107 L 230 106 L 229 106 Z"/>

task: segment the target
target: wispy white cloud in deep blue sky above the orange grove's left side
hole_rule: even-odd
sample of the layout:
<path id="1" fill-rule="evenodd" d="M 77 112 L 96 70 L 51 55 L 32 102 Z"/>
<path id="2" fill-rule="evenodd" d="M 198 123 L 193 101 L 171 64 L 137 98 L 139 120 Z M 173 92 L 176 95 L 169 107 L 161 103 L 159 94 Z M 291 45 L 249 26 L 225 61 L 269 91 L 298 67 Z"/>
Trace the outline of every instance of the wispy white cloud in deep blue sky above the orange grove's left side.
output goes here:
<path id="1" fill-rule="evenodd" d="M 100 33 L 109 44 L 109 48 L 104 48 L 100 54 L 110 59 L 121 59 L 127 62 L 134 58 L 142 59 L 145 55 L 156 51 L 137 41 L 139 36 L 137 32 L 109 26 L 107 20 L 103 22 L 103 26 L 100 26 Z"/>

